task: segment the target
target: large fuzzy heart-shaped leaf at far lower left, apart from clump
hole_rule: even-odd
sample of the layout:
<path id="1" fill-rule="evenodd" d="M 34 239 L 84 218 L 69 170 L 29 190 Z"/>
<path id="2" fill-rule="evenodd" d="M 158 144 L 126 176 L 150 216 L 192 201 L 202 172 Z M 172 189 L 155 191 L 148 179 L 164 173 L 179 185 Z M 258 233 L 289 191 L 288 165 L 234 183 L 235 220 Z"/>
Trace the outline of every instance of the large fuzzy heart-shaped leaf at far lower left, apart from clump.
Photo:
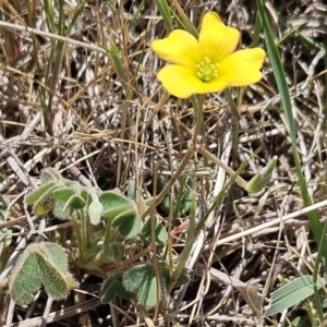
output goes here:
<path id="1" fill-rule="evenodd" d="M 9 290 L 19 304 L 28 304 L 41 286 L 55 300 L 64 299 L 70 289 L 77 287 L 68 270 L 66 254 L 58 244 L 28 245 L 13 269 Z"/>

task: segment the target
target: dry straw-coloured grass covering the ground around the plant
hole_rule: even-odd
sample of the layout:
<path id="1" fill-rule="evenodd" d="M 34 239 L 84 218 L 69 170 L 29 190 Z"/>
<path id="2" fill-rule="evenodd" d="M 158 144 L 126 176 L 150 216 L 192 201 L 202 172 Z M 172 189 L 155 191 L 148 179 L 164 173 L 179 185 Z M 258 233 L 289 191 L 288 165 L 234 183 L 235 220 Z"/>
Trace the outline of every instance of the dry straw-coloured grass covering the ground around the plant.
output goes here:
<path id="1" fill-rule="evenodd" d="M 301 26 L 303 36 L 326 46 L 327 8 L 307 2 L 270 4 L 267 10 L 277 39 L 287 35 L 287 24 L 292 23 Z M 155 38 L 164 37 L 166 31 L 152 1 L 144 5 L 141 1 L 89 2 L 62 52 L 55 55 L 52 34 L 58 31 L 49 31 L 41 4 L 28 2 L 35 3 L 28 15 L 26 3 L 0 3 L 2 21 L 28 25 L 46 34 L 0 25 L 0 201 L 10 208 L 0 229 L 4 231 L 8 227 L 16 234 L 8 252 L 1 254 L 3 290 L 12 261 L 37 239 L 37 233 L 25 232 L 37 230 L 48 234 L 47 229 L 58 223 L 47 217 L 34 217 L 24 205 L 24 197 L 38 184 L 45 167 L 55 167 L 70 179 L 101 190 L 125 191 L 133 180 L 138 183 L 140 195 L 147 198 L 158 193 L 153 183 L 158 165 L 170 167 L 167 173 L 179 167 L 194 125 L 191 102 L 169 97 L 156 80 L 155 73 L 164 63 L 149 46 Z M 227 8 L 218 1 L 194 3 L 184 1 L 183 9 L 195 25 L 204 12 L 217 11 L 225 22 L 242 31 L 242 45 L 250 46 L 256 12 L 253 4 Z M 64 4 L 66 24 L 74 8 L 73 2 Z M 55 22 L 57 19 L 55 11 Z M 303 36 L 292 31 L 279 49 L 292 96 L 304 175 L 325 221 L 326 71 L 324 59 L 317 57 L 319 49 Z M 262 47 L 264 41 L 261 36 Z M 97 45 L 111 50 L 114 45 L 122 69 L 114 62 L 114 55 L 108 56 Z M 56 75 L 60 56 L 62 61 Z M 306 215 L 301 210 L 303 203 L 284 114 L 268 59 L 264 74 L 258 84 L 233 90 L 241 114 L 237 148 L 232 147 L 233 116 L 222 94 L 207 96 L 204 131 L 208 149 L 230 167 L 237 169 L 250 159 L 242 172 L 245 180 L 278 156 L 271 183 L 266 193 L 255 196 L 234 185 L 226 196 L 228 204 L 223 201 L 217 205 L 194 242 L 187 263 L 191 282 L 171 292 L 155 324 L 274 325 L 263 313 L 271 291 L 280 286 L 278 275 L 292 279 L 307 274 L 313 265 L 317 250 Z M 258 146 L 263 150 L 251 158 Z M 218 167 L 209 167 L 208 171 L 208 179 L 192 177 L 198 185 L 197 218 L 228 178 Z M 177 183 L 172 187 L 173 197 L 179 186 Z M 172 211 L 162 207 L 158 210 L 164 223 L 170 221 L 167 217 Z M 179 223 L 186 218 L 187 213 L 180 215 Z M 185 238 L 183 231 L 173 238 L 175 261 Z M 218 270 L 225 275 L 218 275 Z M 101 279 L 80 274 L 84 293 L 72 292 L 66 301 L 58 303 L 49 302 L 41 292 L 32 306 L 14 306 L 4 291 L 1 325 L 45 326 L 46 322 L 56 320 L 53 326 L 154 326 L 153 312 L 143 312 L 119 300 L 100 304 L 94 296 Z M 59 315 L 60 311 L 63 314 Z M 302 314 L 298 306 L 288 318 Z"/>

